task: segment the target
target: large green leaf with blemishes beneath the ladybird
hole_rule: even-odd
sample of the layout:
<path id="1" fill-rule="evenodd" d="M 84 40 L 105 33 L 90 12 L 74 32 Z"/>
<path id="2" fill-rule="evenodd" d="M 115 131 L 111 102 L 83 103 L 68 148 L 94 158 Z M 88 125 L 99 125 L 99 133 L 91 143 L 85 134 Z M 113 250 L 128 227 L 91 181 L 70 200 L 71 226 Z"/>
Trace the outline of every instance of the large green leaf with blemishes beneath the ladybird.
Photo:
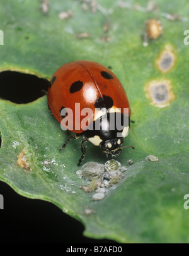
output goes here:
<path id="1" fill-rule="evenodd" d="M 127 1 L 122 7 L 118 1 L 96 1 L 94 13 L 90 3 L 86 10 L 83 4 L 50 1 L 44 14 L 40 1 L 1 1 L 0 70 L 50 79 L 59 66 L 77 59 L 112 66 L 135 121 L 125 140 L 135 150 L 123 150 L 117 161 L 127 166 L 132 159 L 134 164 L 125 172 L 127 178 L 108 188 L 103 200 L 94 201 L 93 193 L 81 190 L 86 180 L 76 174 L 78 140 L 64 152 L 58 150 L 67 133 L 49 113 L 47 97 L 28 104 L 1 100 L 0 179 L 21 195 L 54 203 L 84 224 L 86 236 L 123 243 L 188 243 L 188 210 L 183 207 L 189 193 L 189 46 L 183 42 L 188 1 L 158 1 L 159 11 L 147 11 L 147 1 Z M 69 10 L 73 16 L 60 20 L 59 13 Z M 156 16 L 163 34 L 144 47 L 145 21 Z M 103 32 L 107 21 L 110 28 Z M 89 36 L 81 39 L 81 33 Z M 158 68 L 164 52 L 169 58 L 161 59 L 161 66 L 173 62 L 166 72 Z M 18 166 L 21 152 L 23 167 Z M 146 161 L 147 155 L 159 161 Z M 105 164 L 107 159 L 88 143 L 84 161 Z"/>

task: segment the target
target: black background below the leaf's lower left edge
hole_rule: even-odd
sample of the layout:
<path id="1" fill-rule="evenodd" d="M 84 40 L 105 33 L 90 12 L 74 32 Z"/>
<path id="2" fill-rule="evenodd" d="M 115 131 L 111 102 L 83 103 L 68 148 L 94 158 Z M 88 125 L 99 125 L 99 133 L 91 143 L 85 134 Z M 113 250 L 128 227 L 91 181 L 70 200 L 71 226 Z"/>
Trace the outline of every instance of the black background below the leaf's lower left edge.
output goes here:
<path id="1" fill-rule="evenodd" d="M 84 226 L 50 202 L 18 195 L 0 181 L 0 243 L 115 243 L 83 236 Z"/>

